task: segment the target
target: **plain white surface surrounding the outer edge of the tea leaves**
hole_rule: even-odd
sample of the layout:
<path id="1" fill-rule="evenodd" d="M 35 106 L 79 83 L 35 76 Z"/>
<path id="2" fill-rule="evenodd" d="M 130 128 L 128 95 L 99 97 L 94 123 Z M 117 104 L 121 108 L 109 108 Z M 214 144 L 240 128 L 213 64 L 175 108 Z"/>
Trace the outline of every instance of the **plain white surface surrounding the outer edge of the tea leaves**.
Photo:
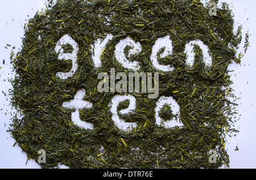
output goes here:
<path id="1" fill-rule="evenodd" d="M 0 168 L 39 168 L 34 160 L 27 161 L 26 153 L 13 144 L 15 140 L 11 138 L 9 129 L 11 123 L 11 113 L 15 110 L 11 109 L 10 97 L 3 95 L 2 91 L 8 94 L 11 84 L 8 79 L 14 77 L 12 66 L 10 64 L 10 53 L 13 46 L 16 47 L 14 52 L 17 53 L 21 48 L 22 40 L 20 37 L 24 35 L 24 23 L 32 18 L 38 5 L 42 0 L 0 0 Z M 236 25 L 243 26 L 243 40 L 245 33 L 250 33 L 250 48 L 242 57 L 241 65 L 233 63 L 229 66 L 232 75 L 233 85 L 236 90 L 234 93 L 237 97 L 241 97 L 237 101 L 238 113 L 241 114 L 240 119 L 236 122 L 239 131 L 236 137 L 227 137 L 228 144 L 226 149 L 230 155 L 230 168 L 256 168 L 256 96 L 255 93 L 255 70 L 256 59 L 256 1 L 255 0 L 233 0 L 225 1 L 230 3 L 233 10 Z M 218 4 L 220 6 L 220 4 Z M 247 18 L 249 18 L 247 20 Z M 6 46 L 10 44 L 11 47 Z M 243 45 L 243 44 L 242 44 Z M 6 49 L 5 46 L 8 48 Z M 2 60 L 5 59 L 5 65 Z M 7 98 L 7 101 L 6 101 Z M 234 151 L 236 146 L 239 151 Z M 26 165 L 27 161 L 27 165 Z"/>

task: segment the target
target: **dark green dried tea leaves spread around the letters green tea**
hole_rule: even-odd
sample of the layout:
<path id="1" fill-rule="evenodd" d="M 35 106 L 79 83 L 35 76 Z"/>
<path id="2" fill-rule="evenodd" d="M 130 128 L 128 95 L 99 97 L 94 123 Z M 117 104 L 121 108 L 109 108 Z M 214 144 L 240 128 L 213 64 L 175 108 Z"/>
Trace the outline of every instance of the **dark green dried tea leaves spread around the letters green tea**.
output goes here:
<path id="1" fill-rule="evenodd" d="M 213 1 L 216 2 L 217 1 Z M 241 27 L 233 32 L 234 19 L 228 5 L 218 4 L 217 16 L 209 16 L 210 7 L 199 0 L 143 1 L 49 1 L 46 16 L 38 13 L 29 20 L 22 50 L 13 58 L 16 76 L 13 79 L 12 105 L 22 114 L 12 119 L 11 135 L 28 159 L 38 162 L 40 149 L 46 151 L 42 168 L 219 168 L 229 165 L 225 136 L 236 131 L 232 115 L 236 115 L 232 81 L 228 65 L 240 63 L 236 57 L 241 43 Z M 113 39 L 101 55 L 101 66 L 94 66 L 92 46 L 107 35 Z M 57 72 L 68 72 L 71 59 L 58 59 L 57 42 L 64 35 L 75 40 L 77 70 L 67 79 Z M 164 72 L 152 66 L 152 46 L 160 37 L 170 36 L 172 54 L 159 59 L 174 70 Z M 136 110 L 125 115 L 126 122 L 135 122 L 130 131 L 120 130 L 112 119 L 109 104 L 115 95 L 100 93 L 97 79 L 100 72 L 110 75 L 134 70 L 125 68 L 114 55 L 119 41 L 130 37 L 139 42 L 142 51 L 130 56 L 139 62 L 140 72 L 159 72 L 159 97 L 173 97 L 179 104 L 177 121 L 182 127 L 167 128 L 155 123 L 156 99 L 148 93 L 129 93 L 136 98 Z M 200 40 L 209 48 L 212 65 L 206 67 L 202 50 L 195 46 L 195 63 L 186 65 L 185 45 Z M 63 46 L 65 53 L 74 49 Z M 129 49 L 125 49 L 129 50 Z M 127 53 L 126 53 L 127 54 Z M 118 81 L 117 81 L 118 82 Z M 79 109 L 81 121 L 93 129 L 77 126 L 72 121 L 74 109 L 63 107 L 80 89 L 83 100 L 92 108 Z M 118 112 L 129 106 L 123 101 Z M 160 117 L 168 119 L 167 106 Z M 217 161 L 209 162 L 209 150 L 217 152 Z"/>

